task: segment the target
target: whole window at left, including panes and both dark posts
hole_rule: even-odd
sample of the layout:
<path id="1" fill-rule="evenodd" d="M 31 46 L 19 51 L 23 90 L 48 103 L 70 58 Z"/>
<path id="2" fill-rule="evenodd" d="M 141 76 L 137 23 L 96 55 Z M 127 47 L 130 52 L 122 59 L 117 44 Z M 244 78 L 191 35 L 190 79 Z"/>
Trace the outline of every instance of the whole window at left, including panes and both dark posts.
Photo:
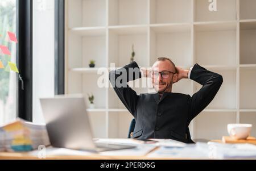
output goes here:
<path id="1" fill-rule="evenodd" d="M 0 1 L 0 45 L 11 52 L 0 51 L 0 124 L 17 116 L 43 123 L 39 99 L 64 94 L 64 19 L 64 0 Z M 8 72 L 9 61 L 19 74 Z"/>

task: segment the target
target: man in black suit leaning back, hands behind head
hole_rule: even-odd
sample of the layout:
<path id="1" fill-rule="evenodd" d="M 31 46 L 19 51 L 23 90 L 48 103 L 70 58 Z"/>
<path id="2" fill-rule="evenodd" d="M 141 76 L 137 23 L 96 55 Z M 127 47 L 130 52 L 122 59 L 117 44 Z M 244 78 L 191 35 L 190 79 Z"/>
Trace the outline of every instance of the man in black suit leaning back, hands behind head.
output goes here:
<path id="1" fill-rule="evenodd" d="M 140 94 L 127 82 L 151 77 L 157 93 Z M 192 97 L 172 93 L 172 84 L 184 78 L 203 85 Z M 205 109 L 217 94 L 222 76 L 195 64 L 191 70 L 175 66 L 168 58 L 160 57 L 151 69 L 139 68 L 136 62 L 109 73 L 109 79 L 119 99 L 136 120 L 133 138 L 174 139 L 193 143 L 189 123 Z"/>

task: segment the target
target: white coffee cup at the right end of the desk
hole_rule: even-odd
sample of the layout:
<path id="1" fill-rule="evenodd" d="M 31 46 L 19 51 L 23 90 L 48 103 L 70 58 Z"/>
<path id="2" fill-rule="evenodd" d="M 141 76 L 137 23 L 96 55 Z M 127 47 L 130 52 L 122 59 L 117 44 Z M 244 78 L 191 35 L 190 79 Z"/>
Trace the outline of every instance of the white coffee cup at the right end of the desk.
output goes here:
<path id="1" fill-rule="evenodd" d="M 252 124 L 228 124 L 228 132 L 233 139 L 246 139 L 250 136 Z"/>

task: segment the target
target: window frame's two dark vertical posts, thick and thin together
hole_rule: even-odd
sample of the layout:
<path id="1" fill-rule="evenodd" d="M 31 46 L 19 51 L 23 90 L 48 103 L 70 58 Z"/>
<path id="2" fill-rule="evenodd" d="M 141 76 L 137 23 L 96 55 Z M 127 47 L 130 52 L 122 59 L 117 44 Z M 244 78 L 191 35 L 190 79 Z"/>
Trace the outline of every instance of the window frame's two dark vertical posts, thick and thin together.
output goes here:
<path id="1" fill-rule="evenodd" d="M 16 0 L 16 114 L 33 121 L 33 0 Z M 22 89 L 23 80 L 24 89 Z M 55 0 L 55 94 L 65 92 L 65 0 Z"/>

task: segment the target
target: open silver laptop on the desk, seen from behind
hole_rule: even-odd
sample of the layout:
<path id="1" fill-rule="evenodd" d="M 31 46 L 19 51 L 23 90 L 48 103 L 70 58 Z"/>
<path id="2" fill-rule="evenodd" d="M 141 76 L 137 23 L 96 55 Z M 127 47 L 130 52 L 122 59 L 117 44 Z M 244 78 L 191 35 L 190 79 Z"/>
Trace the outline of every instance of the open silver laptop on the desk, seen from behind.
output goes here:
<path id="1" fill-rule="evenodd" d="M 41 98 L 40 103 L 53 147 L 94 152 L 135 148 L 134 145 L 96 143 L 93 140 L 83 95 L 57 95 Z"/>

